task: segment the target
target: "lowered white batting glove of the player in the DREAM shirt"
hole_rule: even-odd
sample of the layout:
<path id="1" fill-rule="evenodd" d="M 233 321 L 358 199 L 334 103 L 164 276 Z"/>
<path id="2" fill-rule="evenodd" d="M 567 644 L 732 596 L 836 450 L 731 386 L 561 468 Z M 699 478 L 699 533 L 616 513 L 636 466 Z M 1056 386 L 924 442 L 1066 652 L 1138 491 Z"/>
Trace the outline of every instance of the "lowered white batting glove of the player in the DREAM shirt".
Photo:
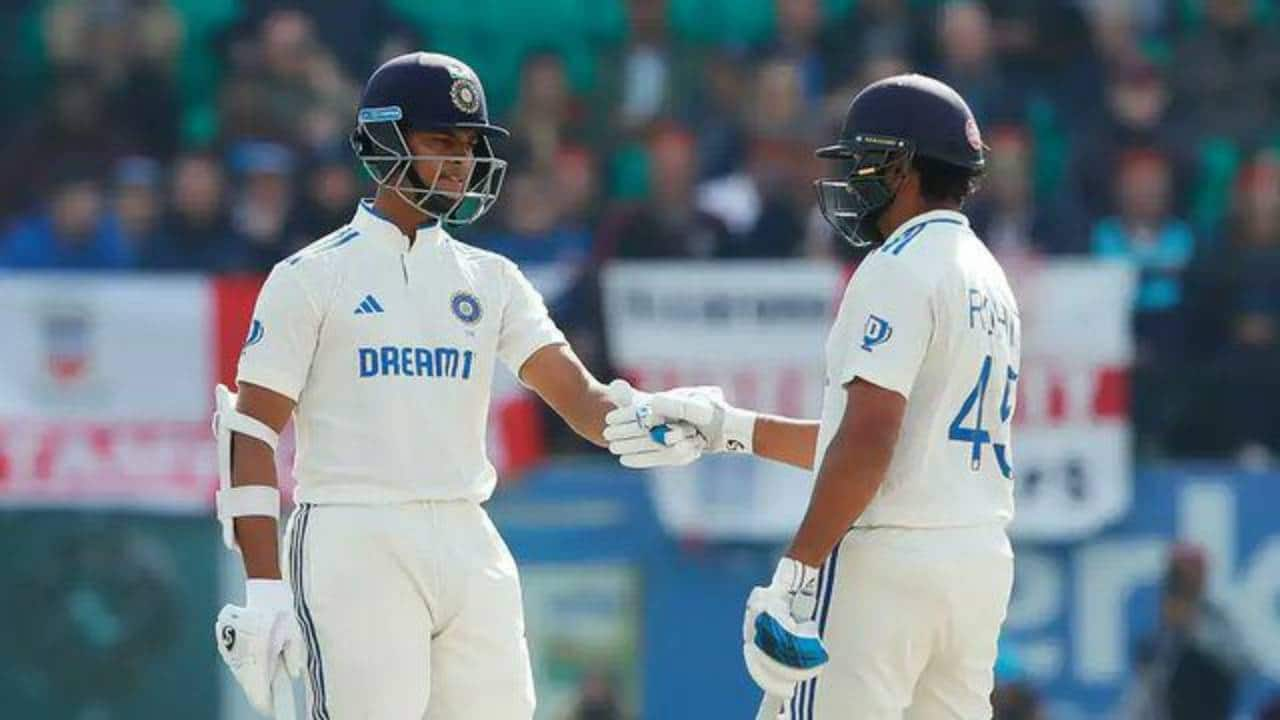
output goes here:
<path id="1" fill-rule="evenodd" d="M 218 614 L 214 638 L 250 705 L 270 716 L 276 670 L 283 664 L 294 678 L 302 671 L 302 632 L 293 616 L 293 593 L 284 580 L 250 579 L 244 594 L 244 607 L 227 605 Z"/>

